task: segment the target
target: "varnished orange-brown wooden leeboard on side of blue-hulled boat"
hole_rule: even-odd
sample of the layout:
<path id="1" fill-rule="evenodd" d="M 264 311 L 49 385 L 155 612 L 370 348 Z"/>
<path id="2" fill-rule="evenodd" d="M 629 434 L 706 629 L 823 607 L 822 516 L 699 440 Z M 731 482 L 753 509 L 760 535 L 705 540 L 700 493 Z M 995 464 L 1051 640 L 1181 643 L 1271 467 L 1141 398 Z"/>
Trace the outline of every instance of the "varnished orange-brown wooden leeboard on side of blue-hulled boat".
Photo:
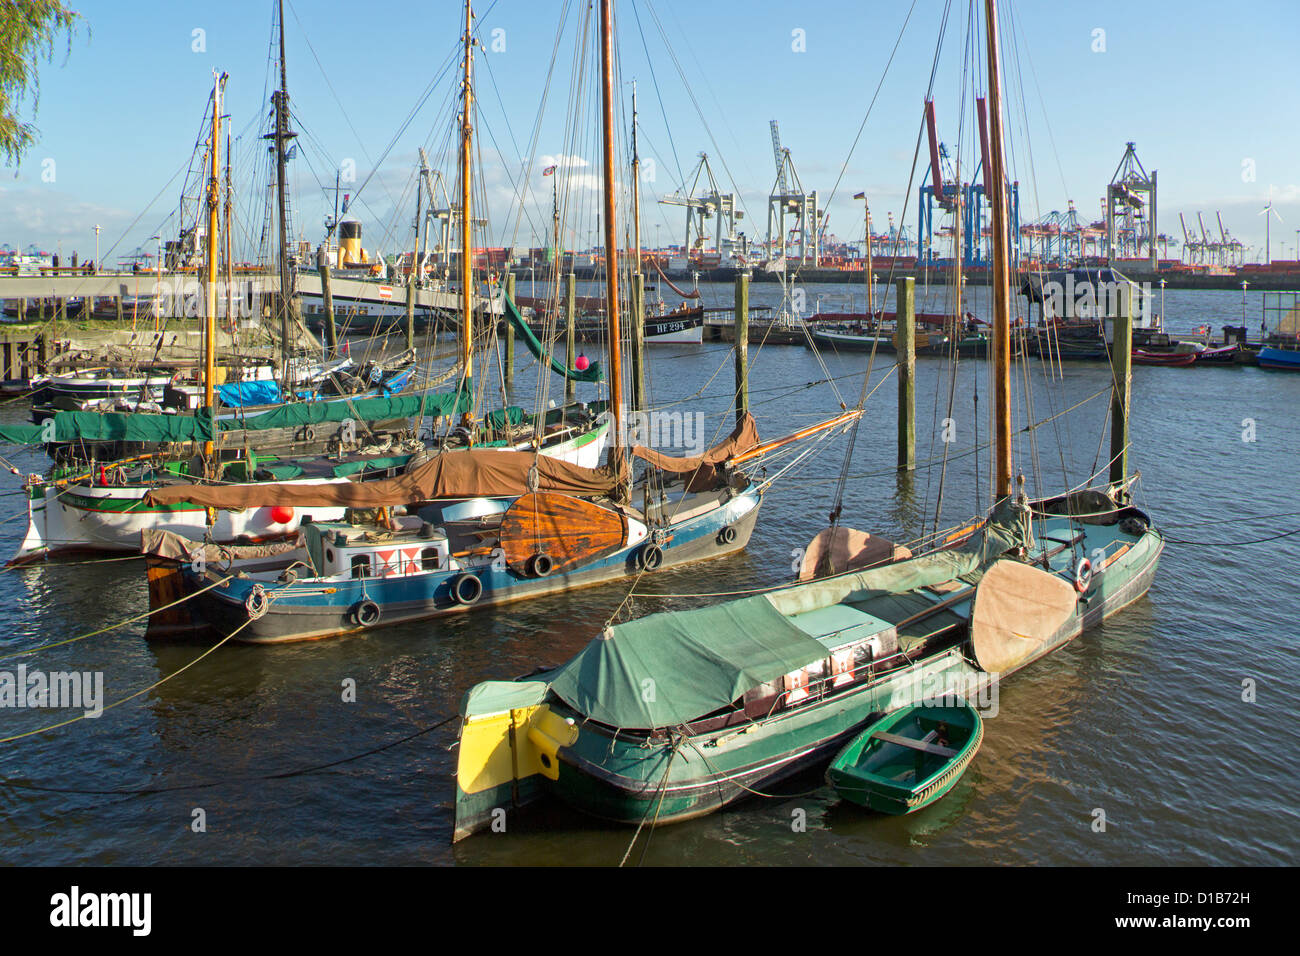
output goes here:
<path id="1" fill-rule="evenodd" d="M 500 548 L 516 574 L 528 574 L 534 554 L 559 574 L 612 554 L 628 540 L 628 522 L 619 511 L 558 492 L 524 494 L 500 520 Z"/>

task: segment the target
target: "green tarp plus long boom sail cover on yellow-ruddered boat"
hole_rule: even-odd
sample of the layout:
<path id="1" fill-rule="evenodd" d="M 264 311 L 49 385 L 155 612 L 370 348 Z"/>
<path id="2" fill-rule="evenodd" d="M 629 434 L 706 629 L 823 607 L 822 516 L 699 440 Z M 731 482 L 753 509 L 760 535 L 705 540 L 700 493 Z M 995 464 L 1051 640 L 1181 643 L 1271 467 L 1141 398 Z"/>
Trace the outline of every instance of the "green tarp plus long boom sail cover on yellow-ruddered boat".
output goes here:
<path id="1" fill-rule="evenodd" d="M 827 657 L 826 645 L 789 615 L 956 579 L 974 584 L 1000 555 L 1023 544 L 1026 533 L 1026 512 L 1008 503 L 959 549 L 616 624 L 549 675 L 551 692 L 580 714 L 620 730 L 697 721 Z"/>

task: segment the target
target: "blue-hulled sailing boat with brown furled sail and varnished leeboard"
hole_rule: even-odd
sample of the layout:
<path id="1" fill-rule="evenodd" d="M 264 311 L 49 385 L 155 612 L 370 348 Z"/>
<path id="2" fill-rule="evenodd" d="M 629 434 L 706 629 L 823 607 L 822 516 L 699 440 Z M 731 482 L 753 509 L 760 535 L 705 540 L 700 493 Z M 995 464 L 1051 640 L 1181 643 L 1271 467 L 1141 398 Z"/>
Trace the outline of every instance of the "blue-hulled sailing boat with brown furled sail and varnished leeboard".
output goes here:
<path id="1" fill-rule="evenodd" d="M 300 555 L 257 555 L 222 587 L 211 574 L 181 567 L 196 626 L 250 643 L 280 643 L 348 633 L 399 622 L 459 614 L 489 605 L 572 591 L 650 574 L 663 567 L 731 554 L 749 541 L 762 503 L 763 484 L 741 464 L 790 441 L 845 427 L 852 410 L 796 436 L 760 444 L 754 420 L 702 455 L 675 458 L 632 445 L 625 434 L 620 342 L 620 273 L 615 208 L 612 33 L 608 3 L 602 8 L 603 225 L 610 263 L 608 316 L 610 429 L 606 467 L 593 470 L 526 451 L 471 447 L 438 455 L 391 481 L 282 489 L 281 506 L 404 506 L 385 519 L 382 533 L 354 523 L 312 523 L 302 532 Z M 471 49 L 467 5 L 465 47 Z M 467 56 L 468 90 L 468 56 Z M 468 109 L 463 120 L 462 176 L 468 176 Z M 468 211 L 469 191 L 462 191 Z M 469 216 L 463 247 L 469 248 Z M 468 256 L 463 260 L 463 307 L 472 316 Z M 471 359 L 462 337 L 463 362 Z M 644 381 L 637 373 L 637 381 Z M 650 467 L 632 486 L 629 458 Z M 640 509 L 632 503 L 641 502 Z M 162 489 L 153 506 L 178 502 L 238 509 L 273 503 L 270 489 Z M 291 567 L 294 563 L 304 567 Z M 229 566 L 221 576 L 229 574 Z"/>

